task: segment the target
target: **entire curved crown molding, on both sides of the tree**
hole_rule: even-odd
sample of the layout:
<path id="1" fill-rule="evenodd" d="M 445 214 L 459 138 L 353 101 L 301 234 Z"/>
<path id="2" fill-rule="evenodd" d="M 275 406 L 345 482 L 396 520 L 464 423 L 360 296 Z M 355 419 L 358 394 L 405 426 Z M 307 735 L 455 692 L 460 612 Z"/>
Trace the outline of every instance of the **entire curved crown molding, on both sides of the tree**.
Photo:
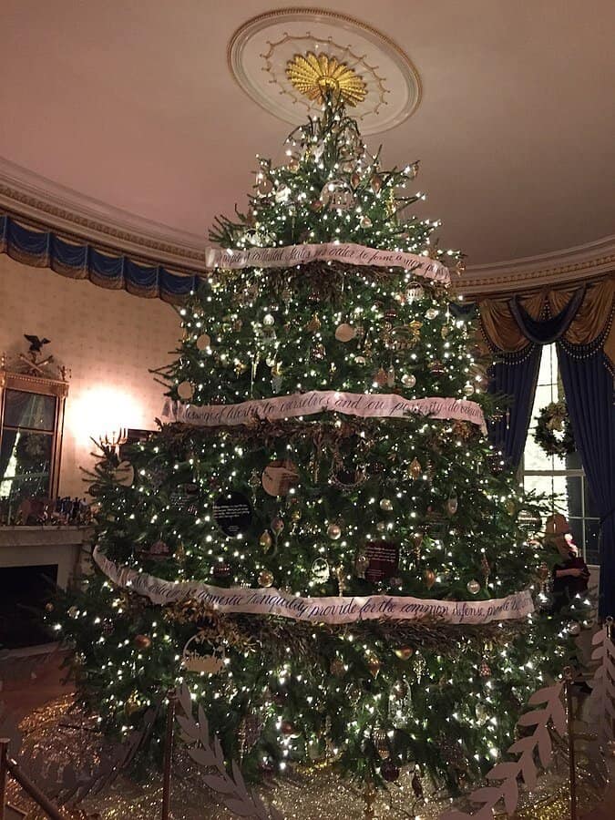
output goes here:
<path id="1" fill-rule="evenodd" d="M 0 157 L 0 210 L 113 254 L 203 272 L 203 236 L 94 200 Z M 579 282 L 615 271 L 615 236 L 522 259 L 469 265 L 457 290 L 468 298 Z"/>

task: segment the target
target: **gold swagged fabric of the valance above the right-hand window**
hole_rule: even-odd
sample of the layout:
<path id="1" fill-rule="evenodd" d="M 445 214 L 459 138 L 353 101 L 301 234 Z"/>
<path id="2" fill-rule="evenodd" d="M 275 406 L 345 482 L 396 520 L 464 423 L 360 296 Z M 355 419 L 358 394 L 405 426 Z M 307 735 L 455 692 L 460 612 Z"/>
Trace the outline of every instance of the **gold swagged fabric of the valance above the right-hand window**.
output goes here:
<path id="1" fill-rule="evenodd" d="M 532 319 L 540 319 L 546 313 L 555 316 L 560 313 L 572 299 L 578 287 L 567 285 L 564 288 L 545 288 L 527 296 L 521 296 L 519 302 Z M 530 342 L 524 335 L 514 316 L 510 313 L 507 299 L 485 299 L 480 302 L 480 323 L 488 343 L 498 350 L 514 354 L 519 353 Z M 570 323 L 563 338 L 570 344 L 589 344 L 604 333 L 602 348 L 610 362 L 611 370 L 615 367 L 615 276 L 587 285 L 583 301 L 577 315 Z"/>

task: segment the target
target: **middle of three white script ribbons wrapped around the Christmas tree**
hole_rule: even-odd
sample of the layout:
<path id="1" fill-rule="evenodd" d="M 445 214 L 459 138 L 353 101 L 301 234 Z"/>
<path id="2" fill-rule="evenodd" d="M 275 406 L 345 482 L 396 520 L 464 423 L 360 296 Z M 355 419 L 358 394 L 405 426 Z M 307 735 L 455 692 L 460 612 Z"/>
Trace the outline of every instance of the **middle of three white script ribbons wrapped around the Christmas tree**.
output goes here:
<path id="1" fill-rule="evenodd" d="M 307 393 L 251 399 L 237 405 L 184 405 L 168 400 L 162 415 L 172 422 L 200 427 L 249 425 L 255 419 L 296 418 L 323 411 L 334 411 L 362 418 L 403 418 L 418 413 L 431 418 L 468 421 L 487 433 L 483 409 L 466 399 L 431 396 L 405 399 L 395 394 L 338 393 L 335 390 L 310 390 Z"/>

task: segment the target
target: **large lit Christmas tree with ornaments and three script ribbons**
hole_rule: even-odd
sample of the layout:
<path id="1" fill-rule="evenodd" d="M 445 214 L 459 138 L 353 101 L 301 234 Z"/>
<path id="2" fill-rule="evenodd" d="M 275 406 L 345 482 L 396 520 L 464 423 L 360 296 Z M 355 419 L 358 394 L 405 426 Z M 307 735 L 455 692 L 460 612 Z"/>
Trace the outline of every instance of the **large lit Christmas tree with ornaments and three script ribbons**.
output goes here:
<path id="1" fill-rule="evenodd" d="M 285 149 L 217 221 L 165 424 L 103 453 L 99 569 L 49 620 L 110 732 L 181 680 L 254 779 L 330 759 L 459 789 L 561 671 L 530 596 L 557 556 L 488 443 L 461 256 L 403 217 L 417 163 L 381 168 L 339 97 Z"/>

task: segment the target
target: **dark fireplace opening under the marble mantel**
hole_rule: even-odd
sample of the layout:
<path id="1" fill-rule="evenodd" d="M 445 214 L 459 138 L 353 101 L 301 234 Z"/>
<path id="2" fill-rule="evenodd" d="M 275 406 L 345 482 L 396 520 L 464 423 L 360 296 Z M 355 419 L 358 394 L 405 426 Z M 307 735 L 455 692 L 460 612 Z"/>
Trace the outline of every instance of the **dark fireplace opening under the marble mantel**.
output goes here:
<path id="1" fill-rule="evenodd" d="M 0 569 L 0 649 L 56 640 L 42 619 L 56 580 L 56 564 Z"/>

